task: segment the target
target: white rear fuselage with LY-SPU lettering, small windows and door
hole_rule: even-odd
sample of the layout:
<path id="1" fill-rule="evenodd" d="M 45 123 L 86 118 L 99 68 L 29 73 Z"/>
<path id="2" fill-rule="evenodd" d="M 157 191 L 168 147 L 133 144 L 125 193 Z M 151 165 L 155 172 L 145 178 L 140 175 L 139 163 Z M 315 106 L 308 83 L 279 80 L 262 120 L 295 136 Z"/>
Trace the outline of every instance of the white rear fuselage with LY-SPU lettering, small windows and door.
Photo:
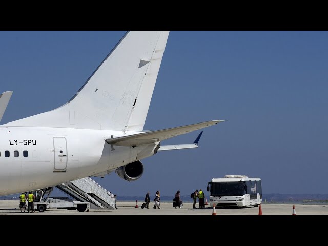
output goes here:
<path id="1" fill-rule="evenodd" d="M 126 135 L 140 132 L 129 132 Z M 111 146 L 122 131 L 0 127 L 0 196 L 110 172 L 154 154 L 157 144 Z M 138 155 L 139 154 L 139 155 Z"/>

